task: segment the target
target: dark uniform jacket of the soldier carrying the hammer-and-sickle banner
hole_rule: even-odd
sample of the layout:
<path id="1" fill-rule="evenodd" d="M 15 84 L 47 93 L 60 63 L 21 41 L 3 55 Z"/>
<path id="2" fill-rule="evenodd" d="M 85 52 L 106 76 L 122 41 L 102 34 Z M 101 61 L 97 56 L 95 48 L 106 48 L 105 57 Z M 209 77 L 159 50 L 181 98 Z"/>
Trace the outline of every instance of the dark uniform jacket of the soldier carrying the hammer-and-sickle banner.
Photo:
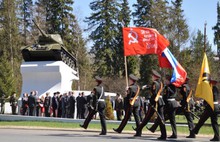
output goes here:
<path id="1" fill-rule="evenodd" d="M 134 84 L 131 84 L 128 88 L 128 94 L 127 94 L 127 97 L 128 97 L 128 100 L 132 100 L 136 93 L 138 91 L 138 85 L 136 83 Z M 140 101 L 139 101 L 139 98 L 137 97 L 137 99 L 135 100 L 135 103 L 133 105 L 134 107 L 138 107 L 140 106 Z"/>

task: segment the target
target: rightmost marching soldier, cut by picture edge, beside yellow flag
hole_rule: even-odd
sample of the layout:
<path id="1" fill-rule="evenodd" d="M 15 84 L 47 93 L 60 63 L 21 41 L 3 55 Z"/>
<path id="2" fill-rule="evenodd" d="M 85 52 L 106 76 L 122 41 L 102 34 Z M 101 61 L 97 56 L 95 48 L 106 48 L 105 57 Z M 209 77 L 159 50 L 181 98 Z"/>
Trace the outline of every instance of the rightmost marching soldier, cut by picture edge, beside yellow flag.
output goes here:
<path id="1" fill-rule="evenodd" d="M 196 124 L 195 128 L 193 129 L 193 132 L 195 134 L 198 134 L 199 129 L 202 127 L 202 125 L 205 123 L 205 121 L 210 117 L 211 118 L 211 124 L 214 131 L 214 137 L 210 141 L 220 141 L 219 137 L 219 126 L 218 126 L 218 111 L 219 111 L 219 104 L 218 104 L 218 88 L 216 87 L 217 81 L 214 79 L 210 80 L 210 85 L 212 86 L 212 92 L 213 92 L 213 103 L 214 103 L 214 110 L 211 108 L 211 106 L 204 101 L 205 110 L 203 114 L 201 115 L 199 122 Z"/>

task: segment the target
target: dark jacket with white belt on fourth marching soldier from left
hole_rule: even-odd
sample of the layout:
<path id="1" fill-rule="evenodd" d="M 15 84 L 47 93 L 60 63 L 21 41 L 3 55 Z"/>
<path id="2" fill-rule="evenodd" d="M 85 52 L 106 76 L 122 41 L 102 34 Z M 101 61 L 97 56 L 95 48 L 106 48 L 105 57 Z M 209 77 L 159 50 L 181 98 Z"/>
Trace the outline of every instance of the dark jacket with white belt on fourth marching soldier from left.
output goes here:
<path id="1" fill-rule="evenodd" d="M 164 100 L 166 103 L 166 106 L 168 108 L 177 108 L 178 103 L 176 101 L 176 96 L 177 96 L 177 89 L 173 84 L 169 84 L 166 87 L 166 94 L 164 96 Z"/>

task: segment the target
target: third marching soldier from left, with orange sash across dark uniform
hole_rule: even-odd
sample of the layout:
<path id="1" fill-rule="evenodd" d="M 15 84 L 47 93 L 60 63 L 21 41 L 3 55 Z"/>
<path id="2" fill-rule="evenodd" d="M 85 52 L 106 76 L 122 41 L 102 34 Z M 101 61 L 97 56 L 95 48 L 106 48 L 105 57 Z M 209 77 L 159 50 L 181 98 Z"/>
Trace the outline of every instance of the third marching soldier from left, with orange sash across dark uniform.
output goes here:
<path id="1" fill-rule="evenodd" d="M 164 120 L 164 113 L 163 113 L 163 109 L 164 109 L 164 101 L 162 99 L 162 96 L 160 96 L 160 91 L 161 91 L 161 85 L 162 82 L 160 81 L 160 74 L 153 70 L 152 71 L 152 86 L 151 86 L 151 93 L 152 96 L 150 98 L 150 103 L 148 106 L 148 111 L 145 114 L 145 117 L 143 119 L 143 121 L 140 123 L 140 125 L 137 126 L 136 130 L 136 134 L 134 136 L 141 136 L 142 134 L 142 129 L 144 128 L 145 125 L 147 125 L 147 123 L 149 122 L 149 120 L 151 119 L 151 117 L 153 116 L 153 114 L 157 111 L 158 114 L 160 115 L 158 118 L 158 122 L 160 123 L 160 131 L 161 131 L 161 136 L 158 138 L 159 140 L 166 140 L 167 134 L 166 134 L 166 127 L 165 124 L 162 123 Z M 158 98 L 158 95 L 160 96 Z M 158 98 L 158 100 L 156 99 Z"/>

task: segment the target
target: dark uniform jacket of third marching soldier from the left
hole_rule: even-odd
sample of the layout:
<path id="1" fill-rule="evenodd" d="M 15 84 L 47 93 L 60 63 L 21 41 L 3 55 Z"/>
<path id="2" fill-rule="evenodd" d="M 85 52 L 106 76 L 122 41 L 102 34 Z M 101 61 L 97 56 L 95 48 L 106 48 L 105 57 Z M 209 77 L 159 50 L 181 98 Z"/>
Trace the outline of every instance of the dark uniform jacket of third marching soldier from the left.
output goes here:
<path id="1" fill-rule="evenodd" d="M 156 104 L 155 98 L 156 98 L 156 96 L 157 96 L 158 91 L 160 90 L 160 85 L 161 85 L 161 81 L 160 81 L 160 80 L 156 80 L 156 81 L 154 81 L 154 82 L 152 83 L 152 86 L 151 86 L 152 96 L 151 96 L 151 98 L 150 98 L 150 103 L 151 103 L 152 105 L 155 105 L 155 104 Z M 165 103 L 164 103 L 162 97 L 160 97 L 160 98 L 158 99 L 158 106 L 163 106 L 163 105 L 165 105 Z"/>

